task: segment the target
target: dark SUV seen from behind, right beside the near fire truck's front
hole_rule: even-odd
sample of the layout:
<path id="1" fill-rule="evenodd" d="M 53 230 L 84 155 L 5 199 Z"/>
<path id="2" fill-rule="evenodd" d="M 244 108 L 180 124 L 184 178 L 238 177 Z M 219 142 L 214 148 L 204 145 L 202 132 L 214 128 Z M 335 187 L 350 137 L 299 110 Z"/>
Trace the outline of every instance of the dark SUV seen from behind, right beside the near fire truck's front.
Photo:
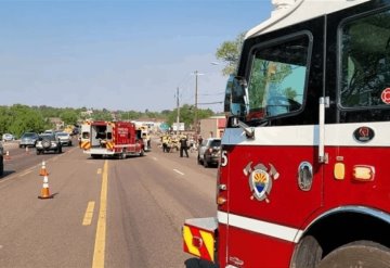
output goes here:
<path id="1" fill-rule="evenodd" d="M 211 164 L 218 165 L 221 156 L 221 139 L 208 138 L 203 140 L 198 149 L 197 162 L 205 167 Z"/>

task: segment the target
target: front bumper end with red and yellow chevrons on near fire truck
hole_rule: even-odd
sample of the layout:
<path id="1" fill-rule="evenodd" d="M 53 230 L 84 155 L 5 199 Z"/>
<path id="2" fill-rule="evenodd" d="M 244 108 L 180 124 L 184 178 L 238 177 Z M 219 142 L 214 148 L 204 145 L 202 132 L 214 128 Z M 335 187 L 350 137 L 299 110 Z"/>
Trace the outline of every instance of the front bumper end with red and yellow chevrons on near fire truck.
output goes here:
<path id="1" fill-rule="evenodd" d="M 186 219 L 182 230 L 184 252 L 202 259 L 216 263 L 218 239 L 217 218 Z"/>

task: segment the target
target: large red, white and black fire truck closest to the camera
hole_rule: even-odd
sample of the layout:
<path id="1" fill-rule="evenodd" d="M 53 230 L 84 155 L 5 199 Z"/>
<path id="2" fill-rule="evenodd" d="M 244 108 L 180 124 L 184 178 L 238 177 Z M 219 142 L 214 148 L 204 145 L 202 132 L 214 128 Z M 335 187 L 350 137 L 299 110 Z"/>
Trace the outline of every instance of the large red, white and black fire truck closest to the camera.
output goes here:
<path id="1" fill-rule="evenodd" d="M 272 2 L 227 81 L 217 217 L 185 220 L 184 251 L 390 267 L 390 1 Z"/>

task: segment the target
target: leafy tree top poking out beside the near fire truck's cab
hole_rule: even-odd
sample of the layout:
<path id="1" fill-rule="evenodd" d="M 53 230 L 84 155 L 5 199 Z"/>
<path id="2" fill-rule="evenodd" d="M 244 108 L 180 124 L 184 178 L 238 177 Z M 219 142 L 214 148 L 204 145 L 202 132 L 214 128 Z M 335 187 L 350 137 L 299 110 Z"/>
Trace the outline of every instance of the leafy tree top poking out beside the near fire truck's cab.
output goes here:
<path id="1" fill-rule="evenodd" d="M 222 74 L 235 74 L 243 49 L 245 33 L 239 34 L 233 41 L 224 41 L 216 52 L 216 58 L 225 64 Z"/>

